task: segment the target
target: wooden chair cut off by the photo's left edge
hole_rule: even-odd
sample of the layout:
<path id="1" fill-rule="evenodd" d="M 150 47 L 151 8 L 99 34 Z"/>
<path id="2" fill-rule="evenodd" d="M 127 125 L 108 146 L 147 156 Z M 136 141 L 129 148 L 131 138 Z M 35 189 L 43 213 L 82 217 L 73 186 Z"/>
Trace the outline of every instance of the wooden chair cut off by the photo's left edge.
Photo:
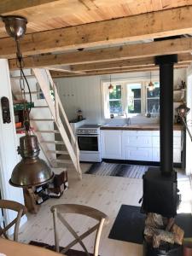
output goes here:
<path id="1" fill-rule="evenodd" d="M 0 236 L 4 236 L 6 239 L 9 239 L 7 236 L 7 231 L 15 225 L 15 230 L 14 230 L 14 241 L 18 241 L 18 232 L 20 228 L 20 218 L 26 214 L 26 207 L 21 205 L 20 203 L 16 201 L 9 201 L 9 200 L 0 200 L 0 209 L 3 210 L 12 210 L 17 212 L 17 216 L 14 220 L 12 220 L 7 226 L 4 228 L 1 227 L 0 225 Z"/>

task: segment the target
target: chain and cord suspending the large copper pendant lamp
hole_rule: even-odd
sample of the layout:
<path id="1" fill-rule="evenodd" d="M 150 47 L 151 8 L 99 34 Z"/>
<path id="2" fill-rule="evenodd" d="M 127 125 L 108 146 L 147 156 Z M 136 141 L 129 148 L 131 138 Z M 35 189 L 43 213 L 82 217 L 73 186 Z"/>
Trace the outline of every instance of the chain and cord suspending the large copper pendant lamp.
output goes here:
<path id="1" fill-rule="evenodd" d="M 24 126 L 26 129 L 26 134 L 28 134 L 28 132 L 30 131 L 30 117 L 29 117 L 29 113 L 31 112 L 32 109 L 32 92 L 30 89 L 30 86 L 28 84 L 28 81 L 26 79 L 26 75 L 23 71 L 23 67 L 24 65 L 24 61 L 23 61 L 23 56 L 20 52 L 20 42 L 18 39 L 15 39 L 16 42 L 16 48 L 17 48 L 17 67 L 20 69 L 20 90 L 21 90 L 21 95 L 24 99 Z M 27 89 L 29 91 L 29 98 L 30 98 L 30 107 L 29 109 L 26 108 L 26 88 L 25 88 L 25 83 L 27 86 Z"/>

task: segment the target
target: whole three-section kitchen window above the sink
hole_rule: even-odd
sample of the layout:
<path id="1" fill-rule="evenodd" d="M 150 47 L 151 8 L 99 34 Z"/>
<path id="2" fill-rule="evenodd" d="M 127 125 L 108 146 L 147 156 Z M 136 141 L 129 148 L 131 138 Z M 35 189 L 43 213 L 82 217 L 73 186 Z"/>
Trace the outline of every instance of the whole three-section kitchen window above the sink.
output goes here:
<path id="1" fill-rule="evenodd" d="M 148 90 L 149 81 L 113 82 L 113 91 L 109 92 L 109 83 L 104 83 L 104 116 L 115 118 L 127 115 L 159 113 L 160 83 L 153 81 L 154 90 Z"/>

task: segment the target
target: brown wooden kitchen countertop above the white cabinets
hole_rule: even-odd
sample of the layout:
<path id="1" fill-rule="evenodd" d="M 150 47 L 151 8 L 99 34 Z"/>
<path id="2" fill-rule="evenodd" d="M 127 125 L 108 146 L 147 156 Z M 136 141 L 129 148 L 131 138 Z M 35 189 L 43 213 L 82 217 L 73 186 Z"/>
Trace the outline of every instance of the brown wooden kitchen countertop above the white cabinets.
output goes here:
<path id="1" fill-rule="evenodd" d="M 159 131 L 160 125 L 149 124 L 149 125 L 102 125 L 101 130 L 125 130 L 125 131 Z M 174 131 L 182 131 L 183 125 L 173 125 Z"/>

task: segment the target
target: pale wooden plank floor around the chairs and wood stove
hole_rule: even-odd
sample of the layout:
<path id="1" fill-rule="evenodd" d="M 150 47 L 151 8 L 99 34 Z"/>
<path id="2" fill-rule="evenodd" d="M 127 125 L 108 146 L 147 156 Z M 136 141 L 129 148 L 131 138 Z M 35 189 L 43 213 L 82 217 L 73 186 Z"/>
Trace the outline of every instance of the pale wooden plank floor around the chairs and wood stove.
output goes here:
<path id="1" fill-rule="evenodd" d="M 83 165 L 84 170 L 87 165 Z M 108 239 L 109 231 L 113 226 L 113 221 L 116 218 L 119 208 L 122 204 L 139 206 L 138 201 L 142 197 L 143 186 L 142 179 L 128 177 L 101 177 L 89 174 L 84 174 L 81 181 L 78 180 L 76 173 L 68 172 L 69 189 L 60 199 L 49 199 L 44 202 L 37 215 L 29 215 L 28 222 L 20 229 L 20 241 L 43 241 L 45 243 L 54 244 L 54 232 L 52 215 L 49 208 L 55 204 L 61 203 L 78 203 L 97 209 L 108 214 L 110 224 L 104 227 L 102 232 L 102 240 L 100 244 L 100 255 L 102 256 L 141 256 L 142 246 L 125 242 Z M 189 179 L 179 174 L 178 187 L 183 195 L 183 204 L 181 211 L 191 212 L 191 190 Z M 190 193 L 189 193 L 190 192 Z M 84 220 L 82 218 L 73 217 L 70 219 L 79 231 L 79 234 L 84 231 L 84 227 L 89 228 L 92 221 L 90 218 Z M 127 230 L 129 232 L 129 230 Z M 61 246 L 65 246 L 68 241 L 71 241 L 72 236 L 68 236 L 67 230 L 61 226 Z M 90 252 L 93 245 L 92 239 L 87 238 Z M 77 246 L 79 250 L 81 247 Z"/>

